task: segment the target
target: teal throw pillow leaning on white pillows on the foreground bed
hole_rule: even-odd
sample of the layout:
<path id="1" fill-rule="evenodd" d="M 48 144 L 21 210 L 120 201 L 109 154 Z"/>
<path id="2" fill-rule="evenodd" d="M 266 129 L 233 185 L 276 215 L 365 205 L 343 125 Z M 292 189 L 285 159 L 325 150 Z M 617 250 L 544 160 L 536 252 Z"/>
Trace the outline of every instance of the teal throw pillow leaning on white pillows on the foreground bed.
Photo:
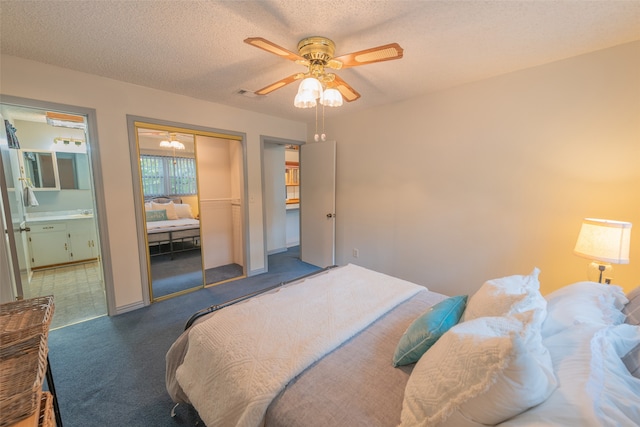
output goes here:
<path id="1" fill-rule="evenodd" d="M 447 298 L 414 320 L 400 338 L 393 355 L 393 366 L 417 362 L 445 332 L 460 321 L 466 305 L 467 295 Z"/>

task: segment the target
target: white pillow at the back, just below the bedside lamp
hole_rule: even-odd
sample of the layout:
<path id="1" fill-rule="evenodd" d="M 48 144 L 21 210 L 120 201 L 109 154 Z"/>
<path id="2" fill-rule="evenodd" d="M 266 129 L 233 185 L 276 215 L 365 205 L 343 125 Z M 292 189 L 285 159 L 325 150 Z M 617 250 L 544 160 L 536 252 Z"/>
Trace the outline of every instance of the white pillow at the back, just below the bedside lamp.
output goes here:
<path id="1" fill-rule="evenodd" d="M 628 302 L 621 287 L 596 282 L 573 283 L 551 292 L 546 300 L 543 337 L 581 323 L 619 325 L 624 322 L 622 309 Z"/>

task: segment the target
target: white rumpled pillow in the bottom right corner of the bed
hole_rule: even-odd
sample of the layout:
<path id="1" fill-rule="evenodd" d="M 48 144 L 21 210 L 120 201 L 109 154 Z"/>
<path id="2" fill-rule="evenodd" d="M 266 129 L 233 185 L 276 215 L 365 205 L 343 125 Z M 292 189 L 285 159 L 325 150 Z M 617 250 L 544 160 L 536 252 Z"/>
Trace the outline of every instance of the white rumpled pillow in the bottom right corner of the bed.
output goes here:
<path id="1" fill-rule="evenodd" d="M 541 405 L 501 427 L 640 425 L 640 379 L 620 355 L 640 342 L 631 325 L 578 324 L 544 340 L 558 375 L 558 388 Z"/>

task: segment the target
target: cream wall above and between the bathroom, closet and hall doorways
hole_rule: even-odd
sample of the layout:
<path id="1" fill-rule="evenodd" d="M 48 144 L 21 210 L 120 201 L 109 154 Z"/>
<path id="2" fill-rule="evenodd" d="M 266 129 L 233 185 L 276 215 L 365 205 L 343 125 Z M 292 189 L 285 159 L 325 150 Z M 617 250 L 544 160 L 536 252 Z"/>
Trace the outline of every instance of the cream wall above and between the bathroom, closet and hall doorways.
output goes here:
<path id="1" fill-rule="evenodd" d="M 112 261 L 117 307 L 136 306 L 143 301 L 137 245 L 131 240 L 136 235 L 136 223 L 127 114 L 246 134 L 249 274 L 264 268 L 260 135 L 302 140 L 307 130 L 305 123 L 7 55 L 2 55 L 0 61 L 0 87 L 3 95 L 96 110 L 111 244 L 108 256 Z"/>

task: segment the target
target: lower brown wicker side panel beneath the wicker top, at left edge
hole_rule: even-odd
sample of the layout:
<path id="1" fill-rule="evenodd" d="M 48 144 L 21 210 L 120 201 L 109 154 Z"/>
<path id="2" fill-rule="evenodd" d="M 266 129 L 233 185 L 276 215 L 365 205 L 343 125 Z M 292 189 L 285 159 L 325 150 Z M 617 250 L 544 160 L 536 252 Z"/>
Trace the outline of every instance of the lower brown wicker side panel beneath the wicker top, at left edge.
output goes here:
<path id="1" fill-rule="evenodd" d="M 44 334 L 0 347 L 0 427 L 27 418 L 38 410 L 47 367 Z"/>

